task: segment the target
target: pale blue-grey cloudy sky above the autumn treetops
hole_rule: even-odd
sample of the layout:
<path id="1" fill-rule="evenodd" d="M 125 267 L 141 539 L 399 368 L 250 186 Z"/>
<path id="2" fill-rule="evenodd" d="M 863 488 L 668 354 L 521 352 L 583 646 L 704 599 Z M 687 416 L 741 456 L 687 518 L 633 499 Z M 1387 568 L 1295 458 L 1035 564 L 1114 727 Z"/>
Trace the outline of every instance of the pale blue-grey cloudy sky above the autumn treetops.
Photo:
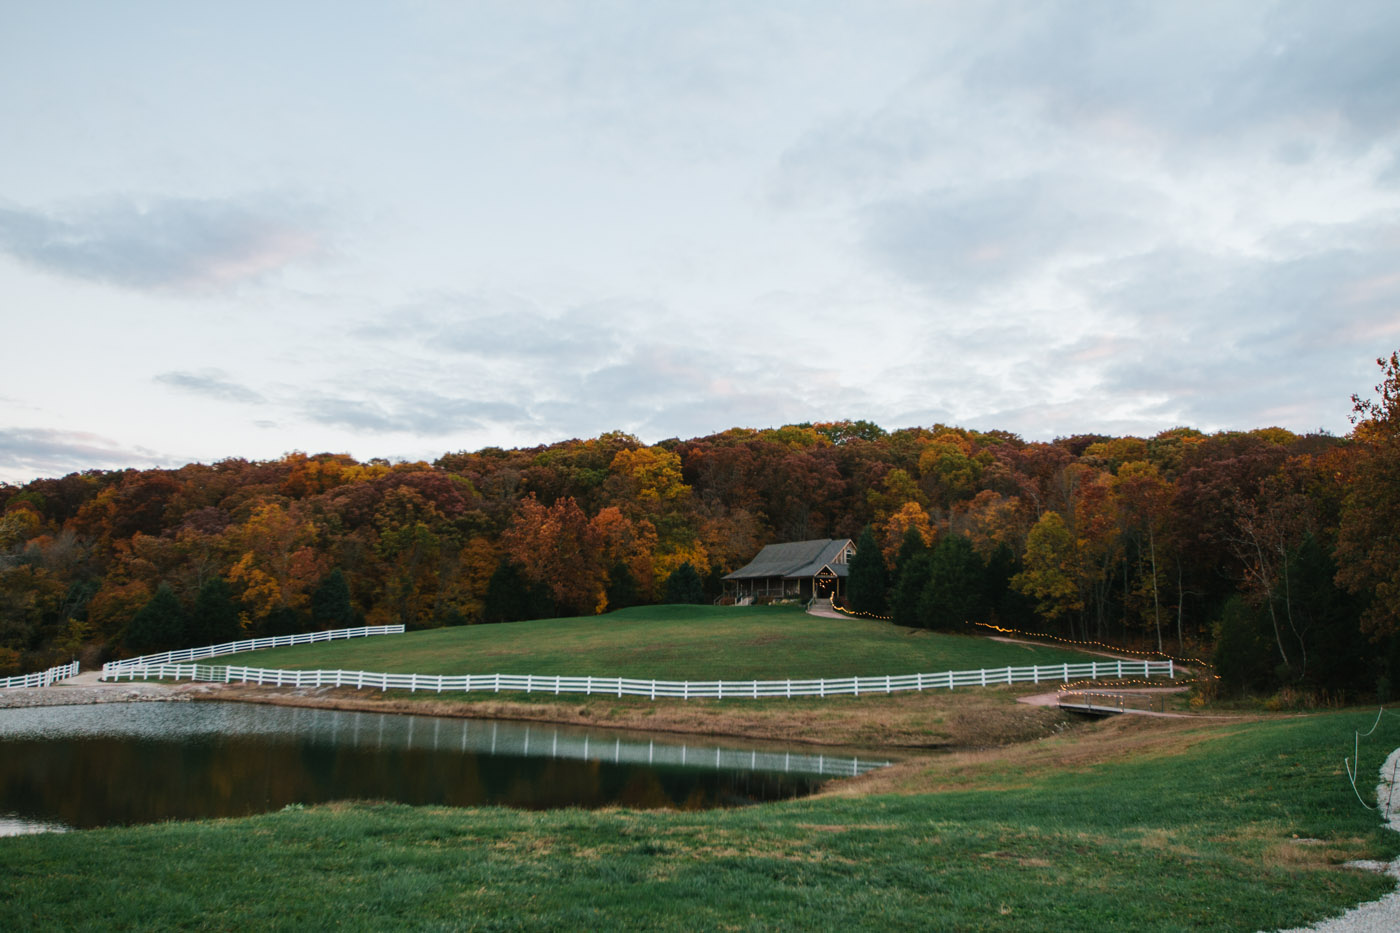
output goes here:
<path id="1" fill-rule="evenodd" d="M 0 481 L 1350 430 L 1400 4 L 0 0 Z"/>

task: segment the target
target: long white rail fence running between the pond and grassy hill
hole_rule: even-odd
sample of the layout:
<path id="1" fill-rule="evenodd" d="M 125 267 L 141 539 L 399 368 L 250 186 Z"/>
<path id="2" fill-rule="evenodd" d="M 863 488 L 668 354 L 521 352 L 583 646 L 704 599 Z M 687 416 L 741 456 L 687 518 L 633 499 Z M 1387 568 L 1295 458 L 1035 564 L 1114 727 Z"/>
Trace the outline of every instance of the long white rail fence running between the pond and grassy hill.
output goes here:
<path id="1" fill-rule="evenodd" d="M 356 686 L 381 691 L 524 691 L 526 693 L 606 693 L 678 699 L 760 699 L 791 696 L 862 696 L 903 691 L 955 689 L 995 684 L 1053 684 L 1071 679 L 1176 677 L 1172 661 L 1088 661 L 1039 667 L 995 667 L 980 671 L 903 674 L 900 677 L 843 677 L 808 681 L 638 681 L 626 677 L 553 677 L 540 674 L 375 674 L 371 671 L 280 671 L 210 664 L 133 664 L 119 671 L 102 668 L 104 679 L 171 678 L 217 684 L 274 686 Z"/>

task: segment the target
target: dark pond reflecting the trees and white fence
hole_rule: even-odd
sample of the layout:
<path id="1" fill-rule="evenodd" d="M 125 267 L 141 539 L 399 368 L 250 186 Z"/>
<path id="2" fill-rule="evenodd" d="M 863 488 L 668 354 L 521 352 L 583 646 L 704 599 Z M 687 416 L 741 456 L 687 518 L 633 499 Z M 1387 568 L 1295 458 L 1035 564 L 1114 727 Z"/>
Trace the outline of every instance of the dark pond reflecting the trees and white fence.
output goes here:
<path id="1" fill-rule="evenodd" d="M 288 804 L 706 808 L 889 763 L 510 721 L 251 703 L 0 710 L 0 835 L 241 817 Z"/>

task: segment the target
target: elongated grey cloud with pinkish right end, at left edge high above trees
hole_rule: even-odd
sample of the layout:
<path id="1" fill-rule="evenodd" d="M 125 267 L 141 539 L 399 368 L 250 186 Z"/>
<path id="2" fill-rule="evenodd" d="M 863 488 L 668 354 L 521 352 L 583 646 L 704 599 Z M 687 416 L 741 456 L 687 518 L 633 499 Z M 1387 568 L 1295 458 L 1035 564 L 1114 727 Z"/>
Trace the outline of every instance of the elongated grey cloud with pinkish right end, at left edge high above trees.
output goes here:
<path id="1" fill-rule="evenodd" d="M 112 199 L 70 212 L 0 206 L 0 252 L 127 289 L 217 289 L 318 252 L 315 212 L 269 198 Z"/>

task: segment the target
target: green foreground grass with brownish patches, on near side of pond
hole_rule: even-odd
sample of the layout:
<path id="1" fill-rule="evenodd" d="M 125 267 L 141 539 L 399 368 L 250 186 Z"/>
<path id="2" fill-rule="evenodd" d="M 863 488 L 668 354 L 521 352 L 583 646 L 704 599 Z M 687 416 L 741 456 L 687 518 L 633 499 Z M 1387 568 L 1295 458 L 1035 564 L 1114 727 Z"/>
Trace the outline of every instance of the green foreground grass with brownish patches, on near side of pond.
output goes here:
<path id="1" fill-rule="evenodd" d="M 1267 930 L 1379 897 L 1373 713 L 1124 719 L 708 813 L 330 806 L 0 839 L 0 929 Z M 1365 782 L 1400 745 L 1386 717 Z M 874 793 L 890 792 L 900 793 Z"/>

